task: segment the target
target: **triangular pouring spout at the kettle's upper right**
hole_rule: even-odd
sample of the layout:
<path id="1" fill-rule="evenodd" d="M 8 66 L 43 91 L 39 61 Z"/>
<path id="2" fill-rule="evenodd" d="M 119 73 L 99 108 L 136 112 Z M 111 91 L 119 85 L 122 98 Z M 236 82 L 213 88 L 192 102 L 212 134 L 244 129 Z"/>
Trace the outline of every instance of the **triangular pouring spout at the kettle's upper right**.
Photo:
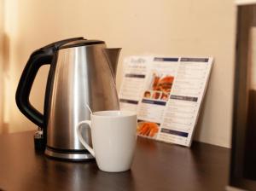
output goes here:
<path id="1" fill-rule="evenodd" d="M 113 71 L 113 76 L 115 77 L 121 48 L 111 48 L 111 49 L 106 48 L 104 50 L 105 50 L 105 54 L 107 55 L 109 65 Z"/>

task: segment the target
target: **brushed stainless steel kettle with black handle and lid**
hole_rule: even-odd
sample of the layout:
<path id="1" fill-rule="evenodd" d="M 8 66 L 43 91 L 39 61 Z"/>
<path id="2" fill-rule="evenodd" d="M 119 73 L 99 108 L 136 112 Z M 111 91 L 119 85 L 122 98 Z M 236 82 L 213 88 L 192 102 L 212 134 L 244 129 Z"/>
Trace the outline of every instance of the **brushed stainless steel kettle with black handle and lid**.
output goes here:
<path id="1" fill-rule="evenodd" d="M 115 72 L 120 49 L 99 40 L 70 38 L 35 50 L 26 63 L 16 91 L 16 103 L 28 119 L 43 128 L 45 154 L 60 159 L 92 159 L 80 144 L 75 127 L 92 111 L 119 109 Z M 44 113 L 29 101 L 38 69 L 49 64 Z M 85 128 L 84 128 L 85 129 Z M 86 128 L 89 129 L 89 128 Z M 83 133 L 91 143 L 90 132 Z"/>

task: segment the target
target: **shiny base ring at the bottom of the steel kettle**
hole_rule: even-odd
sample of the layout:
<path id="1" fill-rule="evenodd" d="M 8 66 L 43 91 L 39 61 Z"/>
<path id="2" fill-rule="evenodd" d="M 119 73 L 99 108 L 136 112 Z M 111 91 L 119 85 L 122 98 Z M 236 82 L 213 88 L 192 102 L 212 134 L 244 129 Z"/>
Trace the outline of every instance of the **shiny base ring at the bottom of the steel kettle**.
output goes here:
<path id="1" fill-rule="evenodd" d="M 54 159 L 65 159 L 65 160 L 73 160 L 73 161 L 83 161 L 95 159 L 87 150 L 84 152 L 81 151 L 63 151 L 59 149 L 46 148 L 44 154 L 50 158 Z"/>

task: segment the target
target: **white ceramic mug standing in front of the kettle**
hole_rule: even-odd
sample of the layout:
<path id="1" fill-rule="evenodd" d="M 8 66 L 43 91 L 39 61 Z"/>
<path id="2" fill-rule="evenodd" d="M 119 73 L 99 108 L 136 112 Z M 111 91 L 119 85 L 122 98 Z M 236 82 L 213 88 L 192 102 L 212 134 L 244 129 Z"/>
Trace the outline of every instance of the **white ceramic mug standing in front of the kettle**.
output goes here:
<path id="1" fill-rule="evenodd" d="M 137 114 L 128 111 L 101 111 L 78 124 L 79 141 L 96 158 L 100 170 L 118 172 L 131 168 L 137 140 Z M 88 124 L 88 125 L 82 125 Z M 92 147 L 84 141 L 82 128 L 91 129 Z"/>

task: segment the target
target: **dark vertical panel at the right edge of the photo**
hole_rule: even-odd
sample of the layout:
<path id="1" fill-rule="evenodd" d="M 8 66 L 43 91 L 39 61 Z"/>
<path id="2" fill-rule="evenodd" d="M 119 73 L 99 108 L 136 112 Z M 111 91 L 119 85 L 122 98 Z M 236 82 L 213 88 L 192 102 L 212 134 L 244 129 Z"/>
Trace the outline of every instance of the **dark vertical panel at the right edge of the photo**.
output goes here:
<path id="1" fill-rule="evenodd" d="M 254 149 L 254 143 L 252 141 L 255 142 L 256 148 L 256 136 L 253 138 L 254 131 L 256 133 L 256 126 L 254 125 L 256 124 L 256 120 L 253 119 L 254 113 L 256 114 L 256 97 L 254 99 L 256 91 L 250 90 L 251 72 L 248 54 L 250 50 L 250 29 L 256 26 L 255 15 L 256 5 L 238 7 L 232 153 L 230 163 L 230 185 L 249 190 L 256 190 L 256 181 L 253 180 L 253 173 L 256 177 L 256 171 L 254 171 L 256 170 L 256 161 L 251 163 Z"/>

